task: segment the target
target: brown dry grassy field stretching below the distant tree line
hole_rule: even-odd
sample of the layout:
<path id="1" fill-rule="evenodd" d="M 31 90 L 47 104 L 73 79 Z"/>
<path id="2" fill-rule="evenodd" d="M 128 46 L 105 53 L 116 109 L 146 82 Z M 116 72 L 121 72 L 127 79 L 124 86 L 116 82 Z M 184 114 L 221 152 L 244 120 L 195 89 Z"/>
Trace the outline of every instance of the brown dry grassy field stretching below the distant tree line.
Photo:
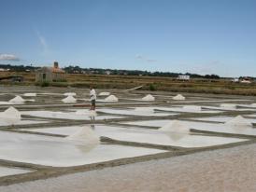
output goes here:
<path id="1" fill-rule="evenodd" d="M 35 85 L 34 73 L 7 73 L 0 72 L 1 76 L 22 75 L 24 81 L 20 85 Z M 1 84 L 13 85 L 8 81 Z M 76 75 L 67 74 L 66 82 L 53 82 L 53 87 L 89 88 L 93 85 L 97 89 L 131 89 L 143 86 L 144 90 L 164 90 L 172 92 L 236 94 L 256 96 L 256 83 L 241 84 L 229 79 L 192 79 L 178 81 L 170 77 L 130 76 L 130 75 Z"/>

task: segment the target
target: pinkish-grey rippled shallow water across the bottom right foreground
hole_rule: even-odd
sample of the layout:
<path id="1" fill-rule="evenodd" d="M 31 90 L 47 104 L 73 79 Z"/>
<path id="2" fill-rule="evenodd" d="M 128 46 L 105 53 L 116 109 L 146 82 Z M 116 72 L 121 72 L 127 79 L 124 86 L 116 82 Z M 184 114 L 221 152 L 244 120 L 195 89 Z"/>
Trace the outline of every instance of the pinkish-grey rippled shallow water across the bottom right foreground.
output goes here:
<path id="1" fill-rule="evenodd" d="M 256 144 L 250 144 L 0 186 L 0 191 L 254 192 L 255 178 Z"/>

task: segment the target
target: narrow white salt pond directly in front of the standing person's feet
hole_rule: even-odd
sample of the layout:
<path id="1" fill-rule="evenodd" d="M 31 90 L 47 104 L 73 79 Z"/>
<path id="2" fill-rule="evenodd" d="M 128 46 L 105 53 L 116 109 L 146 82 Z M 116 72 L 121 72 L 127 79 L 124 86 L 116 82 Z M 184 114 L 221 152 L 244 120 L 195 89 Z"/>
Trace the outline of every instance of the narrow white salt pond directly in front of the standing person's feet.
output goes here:
<path id="1" fill-rule="evenodd" d="M 60 119 L 71 119 L 71 120 L 90 120 L 89 115 L 78 114 L 75 112 L 53 112 L 53 111 L 22 111 L 22 115 L 32 117 L 45 117 L 45 118 L 60 118 Z M 114 116 L 97 116 L 95 119 L 103 120 L 109 118 L 122 118 Z"/>

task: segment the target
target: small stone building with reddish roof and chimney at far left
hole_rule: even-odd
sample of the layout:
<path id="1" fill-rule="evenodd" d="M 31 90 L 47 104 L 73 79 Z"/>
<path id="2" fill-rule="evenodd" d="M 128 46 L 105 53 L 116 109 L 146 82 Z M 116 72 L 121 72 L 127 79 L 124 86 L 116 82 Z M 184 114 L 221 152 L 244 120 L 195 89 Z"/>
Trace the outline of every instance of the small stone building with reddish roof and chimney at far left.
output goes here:
<path id="1" fill-rule="evenodd" d="M 65 72 L 54 62 L 53 67 L 42 67 L 36 71 L 36 82 L 57 82 L 65 80 Z"/>

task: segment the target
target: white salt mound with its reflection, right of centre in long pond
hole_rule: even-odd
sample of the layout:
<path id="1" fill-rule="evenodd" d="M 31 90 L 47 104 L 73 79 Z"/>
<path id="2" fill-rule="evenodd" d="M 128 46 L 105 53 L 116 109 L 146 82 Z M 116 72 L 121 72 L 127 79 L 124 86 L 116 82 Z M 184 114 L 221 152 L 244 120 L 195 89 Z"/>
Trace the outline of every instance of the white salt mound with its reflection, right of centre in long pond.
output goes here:
<path id="1" fill-rule="evenodd" d="M 190 129 L 185 127 L 179 120 L 173 120 L 159 130 L 167 134 L 174 141 L 178 141 L 190 133 Z"/>

